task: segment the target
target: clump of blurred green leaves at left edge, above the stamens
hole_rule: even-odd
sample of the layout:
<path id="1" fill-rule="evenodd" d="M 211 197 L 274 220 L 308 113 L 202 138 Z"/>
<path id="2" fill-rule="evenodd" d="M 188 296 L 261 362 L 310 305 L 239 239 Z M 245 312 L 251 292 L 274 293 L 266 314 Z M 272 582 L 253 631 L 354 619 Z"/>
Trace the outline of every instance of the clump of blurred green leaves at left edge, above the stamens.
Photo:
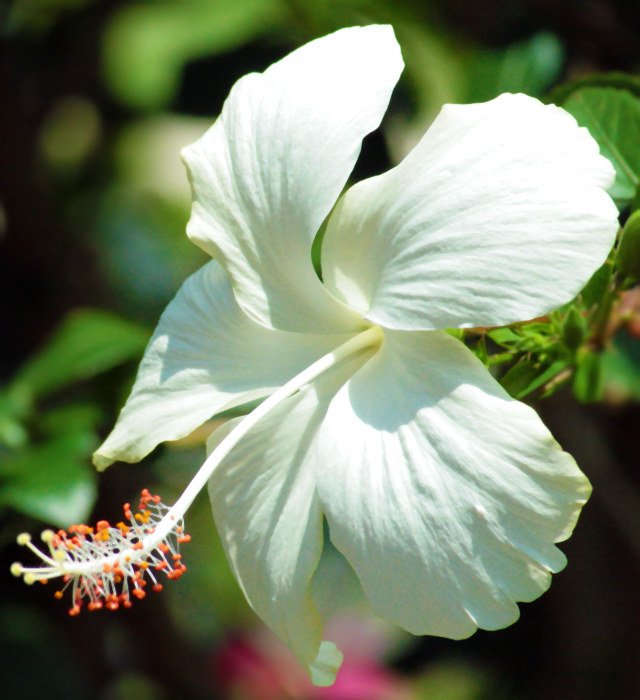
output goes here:
<path id="1" fill-rule="evenodd" d="M 102 411 L 93 401 L 47 406 L 46 399 L 140 357 L 148 339 L 112 313 L 75 310 L 0 389 L 0 507 L 61 527 L 88 517 Z"/>

